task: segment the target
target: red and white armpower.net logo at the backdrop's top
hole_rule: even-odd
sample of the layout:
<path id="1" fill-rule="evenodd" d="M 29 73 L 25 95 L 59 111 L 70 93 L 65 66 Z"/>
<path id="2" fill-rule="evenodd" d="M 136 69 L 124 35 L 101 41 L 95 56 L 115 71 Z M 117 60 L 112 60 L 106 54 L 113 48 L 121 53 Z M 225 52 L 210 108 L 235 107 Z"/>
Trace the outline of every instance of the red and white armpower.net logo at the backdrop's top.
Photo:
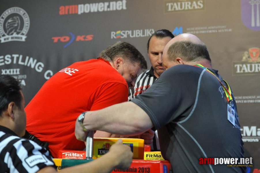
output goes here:
<path id="1" fill-rule="evenodd" d="M 117 10 L 126 10 L 126 0 L 60 6 L 59 14 L 82 14 Z"/>

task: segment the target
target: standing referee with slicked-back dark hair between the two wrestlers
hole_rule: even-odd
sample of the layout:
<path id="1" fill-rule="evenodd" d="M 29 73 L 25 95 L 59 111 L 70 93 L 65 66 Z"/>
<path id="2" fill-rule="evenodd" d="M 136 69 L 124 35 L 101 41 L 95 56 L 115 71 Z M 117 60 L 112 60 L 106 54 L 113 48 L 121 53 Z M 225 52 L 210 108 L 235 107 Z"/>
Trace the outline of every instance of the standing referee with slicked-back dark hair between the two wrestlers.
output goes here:
<path id="1" fill-rule="evenodd" d="M 151 35 L 147 43 L 147 49 L 152 67 L 150 70 L 141 73 L 136 79 L 135 86 L 129 88 L 128 101 L 131 101 L 137 95 L 146 91 L 164 72 L 162 65 L 163 49 L 173 37 L 174 35 L 167 29 L 155 31 Z M 153 138 L 151 150 L 160 150 L 157 131 L 155 131 L 155 137 Z"/>

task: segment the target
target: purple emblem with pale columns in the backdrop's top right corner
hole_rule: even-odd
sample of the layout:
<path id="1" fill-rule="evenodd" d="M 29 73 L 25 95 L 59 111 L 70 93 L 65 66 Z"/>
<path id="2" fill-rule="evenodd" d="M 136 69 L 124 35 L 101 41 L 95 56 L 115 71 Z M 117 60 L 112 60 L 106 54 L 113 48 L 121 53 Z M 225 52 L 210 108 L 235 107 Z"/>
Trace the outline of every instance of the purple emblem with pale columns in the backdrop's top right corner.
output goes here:
<path id="1" fill-rule="evenodd" d="M 259 0 L 241 0 L 241 19 L 246 27 L 260 30 Z"/>

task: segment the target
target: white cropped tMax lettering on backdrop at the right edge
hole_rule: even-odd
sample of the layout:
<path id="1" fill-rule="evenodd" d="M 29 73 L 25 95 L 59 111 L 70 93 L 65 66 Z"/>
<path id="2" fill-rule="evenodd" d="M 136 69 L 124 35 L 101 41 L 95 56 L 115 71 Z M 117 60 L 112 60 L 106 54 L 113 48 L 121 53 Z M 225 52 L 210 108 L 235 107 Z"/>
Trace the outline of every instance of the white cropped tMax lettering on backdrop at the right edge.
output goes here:
<path id="1" fill-rule="evenodd" d="M 240 130 L 244 142 L 259 142 L 260 128 L 257 126 L 243 126 Z"/>

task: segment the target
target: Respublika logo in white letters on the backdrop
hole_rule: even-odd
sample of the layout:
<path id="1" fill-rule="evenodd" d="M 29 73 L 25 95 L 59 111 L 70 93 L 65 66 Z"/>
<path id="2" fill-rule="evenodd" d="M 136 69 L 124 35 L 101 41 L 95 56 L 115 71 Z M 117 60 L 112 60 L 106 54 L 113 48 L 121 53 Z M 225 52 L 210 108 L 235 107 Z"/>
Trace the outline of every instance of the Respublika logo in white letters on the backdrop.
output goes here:
<path id="1" fill-rule="evenodd" d="M 154 29 L 135 29 L 135 30 L 118 30 L 111 32 L 111 39 L 127 37 L 150 37 L 155 32 Z"/>

